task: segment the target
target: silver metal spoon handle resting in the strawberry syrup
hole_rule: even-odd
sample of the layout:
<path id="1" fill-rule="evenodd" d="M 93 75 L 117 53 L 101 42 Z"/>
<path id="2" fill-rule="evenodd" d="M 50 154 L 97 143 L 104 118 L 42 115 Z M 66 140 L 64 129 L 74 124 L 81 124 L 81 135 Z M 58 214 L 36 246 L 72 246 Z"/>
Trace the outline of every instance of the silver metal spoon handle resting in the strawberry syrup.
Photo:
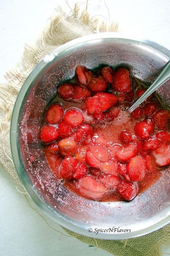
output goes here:
<path id="1" fill-rule="evenodd" d="M 158 89 L 162 84 L 164 84 L 167 80 L 170 79 L 170 60 L 167 62 L 161 73 L 155 79 L 155 81 L 149 86 L 149 88 L 135 101 L 135 103 L 127 110 L 130 114 L 137 108 L 152 92 Z"/>

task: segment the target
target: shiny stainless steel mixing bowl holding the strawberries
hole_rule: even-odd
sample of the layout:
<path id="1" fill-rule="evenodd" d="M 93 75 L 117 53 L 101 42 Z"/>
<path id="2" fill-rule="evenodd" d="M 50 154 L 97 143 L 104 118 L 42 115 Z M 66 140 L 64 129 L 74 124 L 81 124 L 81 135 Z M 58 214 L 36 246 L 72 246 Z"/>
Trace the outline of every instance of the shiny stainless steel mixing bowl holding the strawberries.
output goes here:
<path id="1" fill-rule="evenodd" d="M 56 56 L 56 57 L 55 57 Z M 170 51 L 141 38 L 100 33 L 68 42 L 31 72 L 16 100 L 11 120 L 11 150 L 18 176 L 33 201 L 50 218 L 79 234 L 101 239 L 125 239 L 147 234 L 170 222 L 170 168 L 131 202 L 95 202 L 66 189 L 52 174 L 39 141 L 39 128 L 56 85 L 75 73 L 77 65 L 95 68 L 104 63 L 127 66 L 150 83 L 170 58 Z M 62 76 L 62 78 L 61 78 Z M 169 82 L 158 91 L 170 105 Z M 34 156 L 31 162 L 31 157 Z M 88 232 L 108 228 L 131 232 Z"/>

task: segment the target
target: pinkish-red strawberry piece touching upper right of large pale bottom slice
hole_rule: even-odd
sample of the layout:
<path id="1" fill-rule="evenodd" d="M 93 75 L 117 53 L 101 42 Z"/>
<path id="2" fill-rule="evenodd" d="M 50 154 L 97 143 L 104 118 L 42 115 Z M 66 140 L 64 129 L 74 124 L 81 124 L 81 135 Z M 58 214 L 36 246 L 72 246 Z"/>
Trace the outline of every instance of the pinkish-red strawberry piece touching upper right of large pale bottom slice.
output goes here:
<path id="1" fill-rule="evenodd" d="M 118 187 L 119 182 L 121 179 L 116 175 L 111 174 L 105 174 L 100 175 L 97 178 L 105 187 L 108 187 L 110 189 L 116 189 Z"/>

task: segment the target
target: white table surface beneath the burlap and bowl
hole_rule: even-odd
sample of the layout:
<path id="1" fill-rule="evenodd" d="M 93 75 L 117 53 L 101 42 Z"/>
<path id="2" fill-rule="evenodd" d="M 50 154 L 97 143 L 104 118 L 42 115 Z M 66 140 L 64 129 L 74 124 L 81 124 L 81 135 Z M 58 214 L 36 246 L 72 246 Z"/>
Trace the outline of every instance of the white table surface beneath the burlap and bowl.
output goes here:
<path id="1" fill-rule="evenodd" d="M 76 3 L 70 0 L 67 2 L 71 8 L 73 3 Z M 86 7 L 84 2 L 86 1 L 81 1 L 81 8 Z M 119 22 L 122 32 L 139 33 L 170 49 L 169 0 L 105 2 L 109 8 L 110 19 Z M 105 2 L 89 0 L 88 10 L 91 16 L 102 14 L 109 20 Z M 35 41 L 52 11 L 58 9 L 58 4 L 67 13 L 70 12 L 65 0 L 0 0 L 0 82 L 5 82 L 5 71 L 20 61 L 24 43 Z M 16 190 L 13 180 L 1 168 L 0 188 L 0 255 L 111 255 L 52 230 L 29 207 L 24 195 Z M 33 202 L 31 205 L 37 209 Z M 54 221 L 47 216 L 44 218 L 52 227 L 62 231 Z M 170 253 L 170 247 L 163 248 L 163 251 Z"/>

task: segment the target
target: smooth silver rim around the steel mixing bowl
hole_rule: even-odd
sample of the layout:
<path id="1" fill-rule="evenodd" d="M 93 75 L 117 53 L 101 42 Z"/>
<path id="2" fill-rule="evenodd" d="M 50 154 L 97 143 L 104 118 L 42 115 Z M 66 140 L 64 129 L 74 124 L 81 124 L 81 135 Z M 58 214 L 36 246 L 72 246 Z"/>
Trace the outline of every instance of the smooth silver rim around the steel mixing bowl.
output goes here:
<path id="1" fill-rule="evenodd" d="M 156 42 L 153 42 L 149 39 L 144 39 L 140 36 L 133 36 L 125 33 L 120 32 L 103 32 L 103 33 L 96 33 L 96 34 L 90 34 L 87 36 L 82 36 L 80 38 L 76 38 L 74 40 L 71 40 L 58 48 L 56 48 L 54 51 L 49 53 L 47 56 L 48 59 L 51 59 L 51 61 L 46 62 L 45 59 L 43 59 L 38 65 L 31 71 L 27 79 L 25 80 L 24 84 L 22 85 L 20 92 L 18 93 L 18 96 L 16 98 L 16 102 L 14 104 L 12 117 L 11 117 L 11 123 L 10 123 L 10 146 L 11 146 L 11 153 L 12 153 L 12 159 L 14 162 L 14 166 L 16 168 L 16 172 L 18 174 L 18 177 L 29 195 L 31 199 L 34 201 L 34 203 L 52 220 L 57 222 L 59 225 L 84 236 L 92 237 L 92 238 L 99 238 L 99 239 L 109 239 L 109 240 L 119 240 L 119 239 L 128 239 L 128 238 L 134 238 L 143 236 L 145 234 L 148 234 L 150 232 L 153 232 L 155 230 L 158 230 L 159 228 L 162 228 L 166 224 L 170 222 L 170 215 L 167 216 L 165 214 L 165 218 L 156 224 L 149 226 L 147 228 L 143 228 L 138 231 L 129 232 L 129 233 L 98 233 L 97 237 L 94 232 L 88 232 L 87 229 L 84 229 L 82 227 L 77 226 L 76 224 L 73 224 L 73 222 L 68 221 L 65 219 L 65 216 L 58 212 L 58 214 L 52 212 L 50 208 L 44 203 L 42 198 L 35 193 L 33 188 L 31 187 L 30 183 L 28 182 L 28 177 L 25 176 L 23 165 L 20 162 L 20 156 L 19 156 L 19 149 L 18 149 L 18 143 L 17 143 L 17 130 L 18 130 L 18 120 L 20 115 L 20 109 L 22 106 L 22 102 L 25 98 L 25 95 L 27 93 L 27 90 L 31 87 L 32 81 L 39 76 L 44 69 L 46 69 L 54 59 L 58 58 L 59 54 L 63 51 L 67 51 L 69 48 L 87 42 L 87 41 L 93 41 L 93 40 L 102 40 L 102 39 L 124 39 L 124 40 L 132 40 L 136 41 L 139 44 L 142 43 L 146 46 L 150 46 L 151 48 L 155 48 L 156 50 L 164 53 L 167 56 L 167 61 L 170 59 L 170 51 L 161 46 L 160 44 L 157 44 Z"/>

